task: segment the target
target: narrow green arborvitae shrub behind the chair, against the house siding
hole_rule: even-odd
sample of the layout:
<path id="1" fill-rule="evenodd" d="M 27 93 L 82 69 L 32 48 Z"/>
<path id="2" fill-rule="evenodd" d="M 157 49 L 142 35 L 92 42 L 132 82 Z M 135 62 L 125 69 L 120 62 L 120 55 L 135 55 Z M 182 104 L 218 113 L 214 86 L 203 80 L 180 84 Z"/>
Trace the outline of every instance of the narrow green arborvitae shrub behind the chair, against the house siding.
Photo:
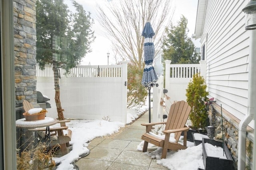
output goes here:
<path id="1" fill-rule="evenodd" d="M 187 102 L 191 106 L 189 117 L 194 129 L 204 128 L 207 125 L 208 113 L 204 103 L 208 100 L 209 93 L 206 87 L 204 77 L 196 73 L 186 89 Z"/>

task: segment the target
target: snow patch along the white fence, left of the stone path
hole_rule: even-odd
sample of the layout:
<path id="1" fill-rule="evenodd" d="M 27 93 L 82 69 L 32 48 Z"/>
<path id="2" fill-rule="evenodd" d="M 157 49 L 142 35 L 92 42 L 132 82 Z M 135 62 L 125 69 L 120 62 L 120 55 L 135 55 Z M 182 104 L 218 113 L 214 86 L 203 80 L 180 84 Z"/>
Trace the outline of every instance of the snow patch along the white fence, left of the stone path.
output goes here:
<path id="1" fill-rule="evenodd" d="M 118 132 L 120 127 L 124 127 L 124 123 L 104 120 L 71 120 L 67 125 L 72 130 L 72 140 L 70 141 L 72 150 L 60 158 L 54 158 L 56 164 L 60 163 L 57 170 L 72 170 L 74 168 L 72 162 L 89 151 L 87 142 Z"/>

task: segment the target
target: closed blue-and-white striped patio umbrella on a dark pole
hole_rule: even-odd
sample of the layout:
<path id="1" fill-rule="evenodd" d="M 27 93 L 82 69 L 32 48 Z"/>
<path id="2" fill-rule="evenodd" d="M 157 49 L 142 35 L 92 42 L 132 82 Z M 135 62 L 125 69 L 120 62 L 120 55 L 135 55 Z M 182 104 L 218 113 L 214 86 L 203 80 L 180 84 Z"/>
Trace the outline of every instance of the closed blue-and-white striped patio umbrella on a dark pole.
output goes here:
<path id="1" fill-rule="evenodd" d="M 144 26 L 144 29 L 142 31 L 142 36 L 145 37 L 144 40 L 144 61 L 145 61 L 145 67 L 142 75 L 142 81 L 141 84 L 144 87 L 148 88 L 148 102 L 149 102 L 149 123 L 151 122 L 150 119 L 150 89 L 151 87 L 154 87 L 156 85 L 156 81 L 158 80 L 158 76 L 156 74 L 156 71 L 153 67 L 153 61 L 155 57 L 155 47 L 153 43 L 153 36 L 155 35 L 154 30 L 152 29 L 152 26 L 150 22 L 147 22 Z"/>

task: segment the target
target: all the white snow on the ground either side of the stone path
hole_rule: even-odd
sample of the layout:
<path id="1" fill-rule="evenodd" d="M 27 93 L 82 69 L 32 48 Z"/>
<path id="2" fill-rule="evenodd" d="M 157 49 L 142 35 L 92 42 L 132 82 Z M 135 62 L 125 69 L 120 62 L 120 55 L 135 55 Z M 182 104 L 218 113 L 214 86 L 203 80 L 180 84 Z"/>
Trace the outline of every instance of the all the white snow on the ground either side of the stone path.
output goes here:
<path id="1" fill-rule="evenodd" d="M 144 113 L 146 109 L 146 107 L 140 109 L 127 109 L 127 124 L 138 118 L 138 116 Z M 57 170 L 73 170 L 74 166 L 72 165 L 72 162 L 80 159 L 80 155 L 89 152 L 87 148 L 88 142 L 96 137 L 118 132 L 119 128 L 124 127 L 125 125 L 121 122 L 110 122 L 105 120 L 71 120 L 67 123 L 67 126 L 72 130 L 72 140 L 70 141 L 72 150 L 60 158 L 54 158 L 57 164 L 60 163 Z M 180 140 L 182 139 L 183 138 L 180 138 Z M 144 141 L 140 143 L 137 150 L 142 150 L 143 142 Z M 152 147 L 152 150 L 154 151 L 145 152 L 145 154 L 151 158 L 156 158 L 157 164 L 171 170 L 204 169 L 202 144 L 194 146 L 194 143 L 187 141 L 187 146 L 188 148 L 185 150 L 168 152 L 166 159 L 161 159 L 162 148 L 149 144 L 149 147 Z"/>

